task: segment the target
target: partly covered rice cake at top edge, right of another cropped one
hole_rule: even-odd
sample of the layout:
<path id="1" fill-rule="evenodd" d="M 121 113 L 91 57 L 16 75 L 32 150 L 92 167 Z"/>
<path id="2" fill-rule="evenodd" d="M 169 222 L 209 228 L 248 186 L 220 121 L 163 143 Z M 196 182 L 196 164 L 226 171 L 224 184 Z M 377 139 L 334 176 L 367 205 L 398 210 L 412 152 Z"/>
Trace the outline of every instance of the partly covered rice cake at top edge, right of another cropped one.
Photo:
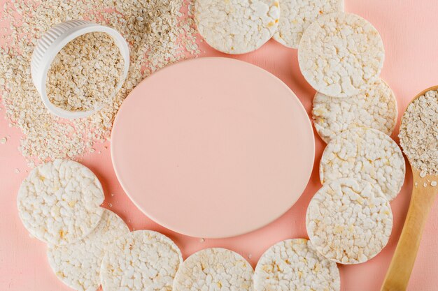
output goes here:
<path id="1" fill-rule="evenodd" d="M 286 47 L 297 49 L 306 28 L 321 15 L 344 11 L 344 0 L 283 0 L 280 10 L 273 38 Z"/>

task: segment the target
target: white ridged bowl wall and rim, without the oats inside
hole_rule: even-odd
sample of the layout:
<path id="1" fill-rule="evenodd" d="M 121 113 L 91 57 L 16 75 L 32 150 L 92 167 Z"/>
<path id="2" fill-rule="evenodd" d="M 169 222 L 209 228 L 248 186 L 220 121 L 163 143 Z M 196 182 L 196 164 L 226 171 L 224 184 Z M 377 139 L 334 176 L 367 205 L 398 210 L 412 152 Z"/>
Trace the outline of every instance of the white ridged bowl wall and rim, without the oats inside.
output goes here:
<path id="1" fill-rule="evenodd" d="M 41 95 L 41 99 L 43 100 L 45 107 L 47 107 L 52 114 L 55 114 L 58 117 L 66 119 L 88 117 L 94 112 L 101 110 L 101 107 L 94 108 L 94 110 L 90 111 L 78 112 L 64 110 L 53 105 L 47 96 L 47 92 L 45 91 L 45 82 L 47 80 L 48 70 L 50 69 L 52 61 L 55 59 L 58 52 L 60 52 L 62 48 L 67 45 L 67 43 L 71 42 L 71 40 L 90 32 L 108 33 L 108 35 L 114 39 L 115 45 L 119 47 L 120 54 L 122 54 L 122 57 L 125 61 L 123 75 L 117 84 L 117 87 L 115 88 L 115 94 L 117 94 L 117 92 L 120 90 L 128 75 L 129 47 L 125 38 L 123 38 L 118 31 L 85 20 L 70 20 L 55 25 L 55 27 L 52 27 L 46 31 L 36 43 L 36 47 L 31 59 L 31 75 L 32 81 L 34 82 L 36 90 Z M 115 94 L 113 96 L 108 96 L 108 98 L 113 98 Z"/>

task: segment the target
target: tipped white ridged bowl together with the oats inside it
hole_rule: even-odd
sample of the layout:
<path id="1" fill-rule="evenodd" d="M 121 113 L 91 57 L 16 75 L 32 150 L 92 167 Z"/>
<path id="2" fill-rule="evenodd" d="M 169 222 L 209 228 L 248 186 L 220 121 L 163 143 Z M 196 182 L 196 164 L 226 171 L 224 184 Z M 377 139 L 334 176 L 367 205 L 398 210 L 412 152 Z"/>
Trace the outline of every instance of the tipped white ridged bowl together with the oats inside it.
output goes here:
<path id="1" fill-rule="evenodd" d="M 45 107 L 58 117 L 88 117 L 111 103 L 129 69 L 118 31 L 85 20 L 55 25 L 36 43 L 31 76 Z"/>

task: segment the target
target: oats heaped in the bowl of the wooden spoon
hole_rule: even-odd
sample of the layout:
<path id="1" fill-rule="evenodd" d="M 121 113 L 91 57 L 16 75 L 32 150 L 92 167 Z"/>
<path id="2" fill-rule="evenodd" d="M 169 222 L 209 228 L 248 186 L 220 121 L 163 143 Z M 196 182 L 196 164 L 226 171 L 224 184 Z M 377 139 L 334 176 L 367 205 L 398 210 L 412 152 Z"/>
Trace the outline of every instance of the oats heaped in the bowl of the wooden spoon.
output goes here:
<path id="1" fill-rule="evenodd" d="M 438 91 L 428 91 L 409 104 L 399 137 L 412 167 L 438 174 Z"/>

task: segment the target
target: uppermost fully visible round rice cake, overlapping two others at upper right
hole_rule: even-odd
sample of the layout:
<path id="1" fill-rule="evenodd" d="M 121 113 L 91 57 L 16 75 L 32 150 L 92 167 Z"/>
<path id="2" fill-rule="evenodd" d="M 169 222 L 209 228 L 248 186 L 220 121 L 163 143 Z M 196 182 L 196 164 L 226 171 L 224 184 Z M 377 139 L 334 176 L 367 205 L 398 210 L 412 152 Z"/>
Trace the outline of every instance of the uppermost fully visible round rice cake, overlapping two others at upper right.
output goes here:
<path id="1" fill-rule="evenodd" d="M 331 13 L 313 22 L 299 43 L 299 68 L 316 91 L 359 94 L 379 79 L 385 50 L 379 32 L 362 17 Z"/>

